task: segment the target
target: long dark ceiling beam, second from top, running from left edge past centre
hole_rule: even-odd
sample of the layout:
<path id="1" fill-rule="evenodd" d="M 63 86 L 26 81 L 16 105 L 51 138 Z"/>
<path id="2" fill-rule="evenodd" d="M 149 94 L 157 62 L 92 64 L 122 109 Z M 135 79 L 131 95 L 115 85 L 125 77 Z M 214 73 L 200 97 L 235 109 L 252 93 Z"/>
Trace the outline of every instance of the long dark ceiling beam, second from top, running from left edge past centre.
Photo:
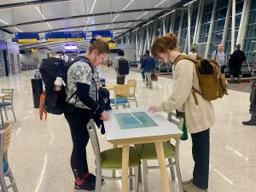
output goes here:
<path id="1" fill-rule="evenodd" d="M 154 9 L 133 9 L 133 10 L 125 10 L 125 11 L 115 11 L 115 12 L 105 12 L 105 13 L 98 13 L 98 14 L 87 14 L 87 15 L 76 15 L 76 16 L 69 16 L 69 17 L 59 17 L 49 20 L 35 20 L 31 22 L 25 22 L 25 23 L 18 23 L 15 25 L 8 25 L 8 26 L 0 26 L 0 29 L 6 29 L 9 27 L 14 26 L 27 26 L 32 24 L 41 24 L 46 22 L 52 22 L 52 21 L 59 21 L 59 20 L 73 20 L 73 19 L 79 19 L 79 18 L 86 18 L 86 17 L 96 17 L 96 16 L 102 16 L 102 15 L 117 15 L 117 14 L 130 14 L 130 13 L 136 13 L 136 12 L 145 12 L 145 11 L 164 11 L 164 10 L 173 10 L 173 9 L 166 9 L 166 8 L 154 8 Z"/>

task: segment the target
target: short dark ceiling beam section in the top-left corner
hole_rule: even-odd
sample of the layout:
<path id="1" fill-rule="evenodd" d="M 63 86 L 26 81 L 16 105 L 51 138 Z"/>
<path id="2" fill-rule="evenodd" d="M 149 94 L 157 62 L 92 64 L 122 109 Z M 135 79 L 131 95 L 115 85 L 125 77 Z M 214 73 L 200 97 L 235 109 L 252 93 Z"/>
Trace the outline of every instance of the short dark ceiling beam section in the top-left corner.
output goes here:
<path id="1" fill-rule="evenodd" d="M 39 1 L 37 0 L 37 1 L 30 1 L 30 2 L 9 3 L 9 4 L 0 5 L 0 9 L 9 9 L 9 8 L 24 7 L 27 5 L 56 3 L 56 2 L 68 2 L 68 1 L 71 1 L 71 0 L 39 0 Z"/>

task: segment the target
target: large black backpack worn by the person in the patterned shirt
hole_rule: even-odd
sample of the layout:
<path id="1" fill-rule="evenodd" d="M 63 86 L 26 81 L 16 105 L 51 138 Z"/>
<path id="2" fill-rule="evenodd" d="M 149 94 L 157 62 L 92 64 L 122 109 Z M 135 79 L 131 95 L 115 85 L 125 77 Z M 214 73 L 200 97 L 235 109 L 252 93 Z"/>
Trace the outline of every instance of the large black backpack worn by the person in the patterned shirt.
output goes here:
<path id="1" fill-rule="evenodd" d="M 67 84 L 67 70 L 69 67 L 73 65 L 73 63 L 77 61 L 85 61 L 90 64 L 90 61 L 84 56 L 77 57 L 69 65 L 67 65 L 66 61 L 63 61 L 55 57 L 44 59 L 42 61 L 39 71 L 41 73 L 42 79 L 45 84 L 46 96 L 45 96 L 44 108 L 48 113 L 52 113 L 52 114 L 64 113 L 67 102 L 69 102 L 69 100 L 73 96 L 77 95 L 77 91 L 75 91 L 73 95 L 67 99 L 65 86 L 61 86 L 60 91 L 54 90 L 56 77 L 61 77 L 64 80 L 64 82 Z M 93 67 L 91 66 L 91 64 L 90 64 L 90 67 L 92 68 L 92 71 L 93 71 Z"/>

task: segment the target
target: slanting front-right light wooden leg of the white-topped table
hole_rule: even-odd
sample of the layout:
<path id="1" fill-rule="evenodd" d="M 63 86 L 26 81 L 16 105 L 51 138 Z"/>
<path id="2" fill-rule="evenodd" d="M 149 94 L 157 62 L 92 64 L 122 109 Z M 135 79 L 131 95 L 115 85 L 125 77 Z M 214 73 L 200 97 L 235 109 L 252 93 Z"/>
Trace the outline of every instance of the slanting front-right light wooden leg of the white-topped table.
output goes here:
<path id="1" fill-rule="evenodd" d="M 167 171 L 166 171 L 166 161 L 165 161 L 163 143 L 156 142 L 156 143 L 154 143 L 154 146 L 155 146 L 155 150 L 156 150 L 156 154 L 157 154 L 157 158 L 158 158 L 158 163 L 160 166 L 160 175 L 162 177 L 162 184 L 163 184 L 164 192 L 170 192 Z"/>

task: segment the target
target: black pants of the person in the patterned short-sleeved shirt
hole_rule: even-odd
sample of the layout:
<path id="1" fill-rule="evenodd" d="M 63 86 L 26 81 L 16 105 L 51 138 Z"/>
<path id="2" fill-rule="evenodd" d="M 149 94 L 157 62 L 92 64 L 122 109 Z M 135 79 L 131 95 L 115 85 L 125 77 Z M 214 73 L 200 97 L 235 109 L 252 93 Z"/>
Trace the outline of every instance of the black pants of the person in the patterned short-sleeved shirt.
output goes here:
<path id="1" fill-rule="evenodd" d="M 70 163 L 75 179 L 80 180 L 83 178 L 84 173 L 89 172 L 86 146 L 90 137 L 86 126 L 92 118 L 92 113 L 89 109 L 76 108 L 73 113 L 64 113 L 64 115 L 69 124 L 73 141 Z"/>

